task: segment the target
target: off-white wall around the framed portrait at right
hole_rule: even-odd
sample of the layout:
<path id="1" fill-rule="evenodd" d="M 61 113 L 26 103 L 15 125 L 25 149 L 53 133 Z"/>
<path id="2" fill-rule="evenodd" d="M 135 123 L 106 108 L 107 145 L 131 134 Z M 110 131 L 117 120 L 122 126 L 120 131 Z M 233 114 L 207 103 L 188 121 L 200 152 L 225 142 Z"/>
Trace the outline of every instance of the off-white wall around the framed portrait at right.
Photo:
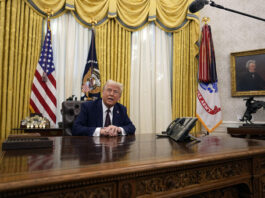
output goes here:
<path id="1" fill-rule="evenodd" d="M 229 9 L 265 18 L 264 0 L 214 0 L 214 2 Z M 242 124 L 238 118 L 242 117 L 246 110 L 243 98 L 247 97 L 231 96 L 230 53 L 265 49 L 265 22 L 210 5 L 206 5 L 200 11 L 201 19 L 206 16 L 210 17 L 208 24 L 212 29 L 219 79 L 223 124 L 216 131 L 220 131 L 225 130 L 227 126 Z M 264 96 L 255 97 L 255 99 L 265 101 Z M 265 110 L 260 109 L 253 114 L 252 121 L 264 123 Z"/>

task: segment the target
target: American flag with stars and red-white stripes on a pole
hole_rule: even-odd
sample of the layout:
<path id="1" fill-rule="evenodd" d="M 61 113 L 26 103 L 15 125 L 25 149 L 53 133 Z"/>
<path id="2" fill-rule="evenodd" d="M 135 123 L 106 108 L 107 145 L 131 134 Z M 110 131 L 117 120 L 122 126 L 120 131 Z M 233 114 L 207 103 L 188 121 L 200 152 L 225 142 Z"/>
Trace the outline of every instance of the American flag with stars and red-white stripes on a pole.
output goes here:
<path id="1" fill-rule="evenodd" d="M 49 21 L 44 45 L 35 71 L 31 96 L 30 109 L 33 113 L 41 113 L 50 121 L 51 126 L 56 124 L 56 80 L 53 63 L 51 30 Z"/>

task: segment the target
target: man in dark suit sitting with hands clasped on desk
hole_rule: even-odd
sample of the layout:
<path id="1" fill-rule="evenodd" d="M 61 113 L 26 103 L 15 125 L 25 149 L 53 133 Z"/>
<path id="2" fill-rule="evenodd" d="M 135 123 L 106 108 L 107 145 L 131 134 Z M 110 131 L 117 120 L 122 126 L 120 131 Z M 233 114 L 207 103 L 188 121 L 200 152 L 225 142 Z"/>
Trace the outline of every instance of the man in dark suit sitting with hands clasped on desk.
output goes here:
<path id="1" fill-rule="evenodd" d="M 102 99 L 82 104 L 72 135 L 117 136 L 134 134 L 135 126 L 127 115 L 126 107 L 118 103 L 123 86 L 108 80 L 103 87 Z"/>

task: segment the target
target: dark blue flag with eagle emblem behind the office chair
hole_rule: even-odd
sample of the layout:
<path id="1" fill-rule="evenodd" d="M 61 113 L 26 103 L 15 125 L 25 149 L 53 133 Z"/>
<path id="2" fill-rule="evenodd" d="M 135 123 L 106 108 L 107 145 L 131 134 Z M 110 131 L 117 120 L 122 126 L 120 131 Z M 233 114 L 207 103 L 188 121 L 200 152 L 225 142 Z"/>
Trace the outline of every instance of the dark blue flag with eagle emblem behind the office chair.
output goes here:
<path id="1" fill-rule="evenodd" d="M 100 73 L 95 45 L 95 34 L 92 29 L 91 44 L 88 52 L 87 63 L 82 78 L 81 100 L 94 100 L 100 97 Z"/>

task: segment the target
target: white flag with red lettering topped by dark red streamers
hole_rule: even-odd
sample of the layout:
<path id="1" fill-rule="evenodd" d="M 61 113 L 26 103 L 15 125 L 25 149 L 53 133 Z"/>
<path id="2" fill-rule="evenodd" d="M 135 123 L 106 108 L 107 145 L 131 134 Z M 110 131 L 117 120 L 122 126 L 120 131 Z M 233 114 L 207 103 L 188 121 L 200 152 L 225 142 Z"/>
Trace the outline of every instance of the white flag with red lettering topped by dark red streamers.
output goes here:
<path id="1" fill-rule="evenodd" d="M 211 27 L 205 24 L 201 35 L 196 116 L 212 132 L 222 123 L 222 112 Z"/>

